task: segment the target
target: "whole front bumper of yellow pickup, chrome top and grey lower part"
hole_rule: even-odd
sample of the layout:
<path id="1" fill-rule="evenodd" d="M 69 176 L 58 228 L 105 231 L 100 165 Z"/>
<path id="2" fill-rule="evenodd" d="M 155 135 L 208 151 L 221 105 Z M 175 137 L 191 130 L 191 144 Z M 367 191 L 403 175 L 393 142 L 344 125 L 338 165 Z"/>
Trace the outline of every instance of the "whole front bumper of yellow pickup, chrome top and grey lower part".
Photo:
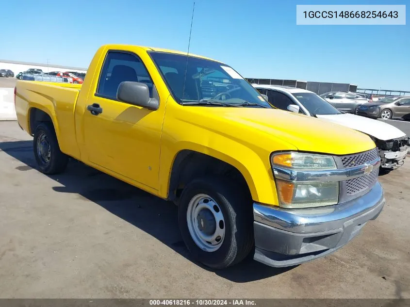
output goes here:
<path id="1" fill-rule="evenodd" d="M 254 203 L 254 259 L 285 267 L 333 253 L 375 220 L 384 203 L 378 182 L 361 197 L 334 206 L 291 210 Z"/>

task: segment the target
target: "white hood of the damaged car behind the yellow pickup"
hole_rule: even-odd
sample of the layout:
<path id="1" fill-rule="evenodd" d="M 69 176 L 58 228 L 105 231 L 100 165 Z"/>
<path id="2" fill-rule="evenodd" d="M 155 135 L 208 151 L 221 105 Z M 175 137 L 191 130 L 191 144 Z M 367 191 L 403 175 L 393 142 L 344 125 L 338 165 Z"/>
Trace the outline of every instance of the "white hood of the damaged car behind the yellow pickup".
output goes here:
<path id="1" fill-rule="evenodd" d="M 323 118 L 333 123 L 361 131 L 383 141 L 400 138 L 406 135 L 403 131 L 390 124 L 359 115 L 335 114 L 316 115 L 316 117 Z"/>

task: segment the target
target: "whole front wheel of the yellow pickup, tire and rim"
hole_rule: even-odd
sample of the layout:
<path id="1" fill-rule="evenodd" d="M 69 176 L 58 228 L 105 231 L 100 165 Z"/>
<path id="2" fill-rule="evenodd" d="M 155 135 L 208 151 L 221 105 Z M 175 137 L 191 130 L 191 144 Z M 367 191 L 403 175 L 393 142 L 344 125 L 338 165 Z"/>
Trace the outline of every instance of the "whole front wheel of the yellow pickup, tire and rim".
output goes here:
<path id="1" fill-rule="evenodd" d="M 239 263 L 254 246 L 252 199 L 223 178 L 192 181 L 182 192 L 178 221 L 192 256 L 208 267 Z"/>

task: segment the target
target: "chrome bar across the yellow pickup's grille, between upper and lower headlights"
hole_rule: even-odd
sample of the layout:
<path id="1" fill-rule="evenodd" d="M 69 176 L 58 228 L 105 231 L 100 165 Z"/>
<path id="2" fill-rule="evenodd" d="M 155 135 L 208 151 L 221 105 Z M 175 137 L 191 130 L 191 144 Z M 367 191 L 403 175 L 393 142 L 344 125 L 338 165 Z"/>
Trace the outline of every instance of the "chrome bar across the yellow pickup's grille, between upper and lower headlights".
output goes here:
<path id="1" fill-rule="evenodd" d="M 310 182 L 323 182 L 323 181 L 344 181 L 353 178 L 361 177 L 365 174 L 369 174 L 374 168 L 380 166 L 380 157 L 365 163 L 360 166 L 354 166 L 344 169 L 329 169 L 320 171 L 308 171 L 308 170 L 294 170 L 285 167 L 273 166 L 273 173 L 275 178 L 287 180 L 287 181 L 310 181 Z"/>

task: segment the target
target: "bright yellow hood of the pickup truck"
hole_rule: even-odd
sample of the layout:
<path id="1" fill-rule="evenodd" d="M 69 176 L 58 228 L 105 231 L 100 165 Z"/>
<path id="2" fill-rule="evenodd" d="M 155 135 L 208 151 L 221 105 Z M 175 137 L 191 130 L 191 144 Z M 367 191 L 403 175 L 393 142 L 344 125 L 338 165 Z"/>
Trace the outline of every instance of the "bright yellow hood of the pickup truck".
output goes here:
<path id="1" fill-rule="evenodd" d="M 345 155 L 376 145 L 365 134 L 310 116 L 264 108 L 190 108 L 180 120 L 260 147 L 280 139 L 301 151 Z M 253 133 L 253 131 L 255 131 Z M 287 149 L 287 148 L 284 148 Z"/>

